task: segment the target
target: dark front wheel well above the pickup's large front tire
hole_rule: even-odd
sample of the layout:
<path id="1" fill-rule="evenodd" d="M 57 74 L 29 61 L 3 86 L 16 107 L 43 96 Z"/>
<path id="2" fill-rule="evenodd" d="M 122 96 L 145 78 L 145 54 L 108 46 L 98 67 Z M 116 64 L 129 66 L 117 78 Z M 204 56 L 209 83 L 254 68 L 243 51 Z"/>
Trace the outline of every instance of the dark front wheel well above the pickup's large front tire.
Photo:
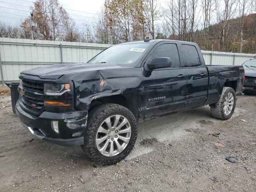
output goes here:
<path id="1" fill-rule="evenodd" d="M 138 102 L 136 102 L 136 99 L 134 99 L 132 95 L 113 95 L 92 100 L 89 111 L 95 108 L 96 106 L 105 103 L 114 103 L 128 108 L 134 114 L 137 120 L 140 116 Z"/>

